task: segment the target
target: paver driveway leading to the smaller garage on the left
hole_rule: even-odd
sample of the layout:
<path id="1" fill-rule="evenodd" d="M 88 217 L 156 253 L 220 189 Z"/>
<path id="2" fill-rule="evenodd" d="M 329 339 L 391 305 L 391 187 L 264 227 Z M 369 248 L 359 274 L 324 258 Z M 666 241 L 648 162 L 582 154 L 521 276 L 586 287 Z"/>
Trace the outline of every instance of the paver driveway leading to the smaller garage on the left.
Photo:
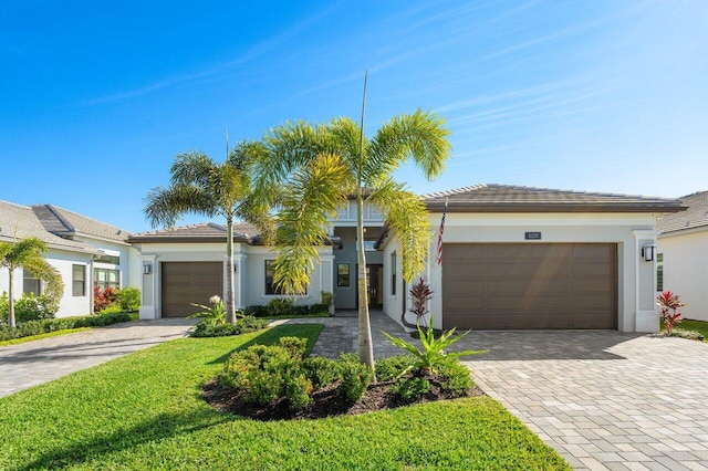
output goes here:
<path id="1" fill-rule="evenodd" d="M 0 397 L 184 337 L 195 320 L 138 321 L 0 347 Z"/>

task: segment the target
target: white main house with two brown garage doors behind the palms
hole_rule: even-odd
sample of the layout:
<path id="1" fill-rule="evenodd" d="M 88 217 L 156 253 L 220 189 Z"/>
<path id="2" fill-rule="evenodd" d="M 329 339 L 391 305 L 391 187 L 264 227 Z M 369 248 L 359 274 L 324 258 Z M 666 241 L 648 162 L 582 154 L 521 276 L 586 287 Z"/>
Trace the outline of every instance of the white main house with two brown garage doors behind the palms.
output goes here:
<path id="1" fill-rule="evenodd" d="M 656 332 L 656 217 L 681 209 L 674 199 L 479 185 L 423 197 L 431 211 L 430 258 L 424 273 L 435 295 L 435 325 L 496 328 L 610 328 Z M 449 200 L 441 266 L 435 263 L 437 229 Z M 311 284 L 298 303 L 335 294 L 335 307 L 356 307 L 354 203 L 332 222 Z M 397 242 L 376 208 L 365 208 L 369 303 L 400 322 L 410 306 Z M 267 304 L 272 286 L 271 248 L 257 231 L 237 226 L 236 303 Z M 196 224 L 134 234 L 128 242 L 143 265 L 142 318 L 183 316 L 190 302 L 223 290 L 226 229 Z"/>

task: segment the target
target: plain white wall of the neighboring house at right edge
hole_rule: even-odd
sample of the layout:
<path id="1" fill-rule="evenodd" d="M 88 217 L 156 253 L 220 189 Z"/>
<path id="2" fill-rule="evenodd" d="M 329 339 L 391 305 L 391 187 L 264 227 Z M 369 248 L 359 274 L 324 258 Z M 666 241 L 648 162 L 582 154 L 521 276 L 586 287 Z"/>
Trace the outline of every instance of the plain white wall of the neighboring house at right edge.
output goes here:
<path id="1" fill-rule="evenodd" d="M 660 236 L 657 252 L 664 254 L 664 290 L 686 303 L 683 317 L 708 321 L 708 228 Z"/>

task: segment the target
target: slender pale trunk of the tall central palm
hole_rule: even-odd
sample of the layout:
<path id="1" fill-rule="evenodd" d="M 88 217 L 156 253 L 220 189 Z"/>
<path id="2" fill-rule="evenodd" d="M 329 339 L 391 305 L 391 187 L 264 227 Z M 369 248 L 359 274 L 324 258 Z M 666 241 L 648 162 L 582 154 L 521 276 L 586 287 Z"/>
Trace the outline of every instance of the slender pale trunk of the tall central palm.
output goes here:
<path id="1" fill-rule="evenodd" d="M 364 254 L 364 198 L 356 195 L 356 248 L 358 264 L 358 360 L 374 369 L 372 325 L 368 316 L 368 292 L 366 280 L 366 255 Z M 374 381 L 376 378 L 374 377 Z"/>

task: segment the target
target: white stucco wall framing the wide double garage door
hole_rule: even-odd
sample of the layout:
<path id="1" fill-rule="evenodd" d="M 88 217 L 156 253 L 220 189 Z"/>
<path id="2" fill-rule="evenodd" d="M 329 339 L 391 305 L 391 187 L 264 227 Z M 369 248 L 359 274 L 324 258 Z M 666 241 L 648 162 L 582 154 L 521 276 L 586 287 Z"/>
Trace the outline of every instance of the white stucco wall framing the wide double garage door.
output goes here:
<path id="1" fill-rule="evenodd" d="M 442 270 L 436 264 L 440 217 L 440 213 L 430 214 L 430 255 L 426 272 L 423 273 L 436 293 L 430 303 L 436 327 L 442 325 L 439 315 L 442 312 Z M 639 254 L 643 244 L 656 243 L 655 223 L 654 214 L 648 213 L 448 213 L 444 242 L 616 243 L 618 329 L 656 332 L 658 316 L 653 310 L 653 286 L 656 285 L 654 262 L 643 261 Z M 541 232 L 542 239 L 538 242 L 527 241 L 524 232 Z M 395 241 L 387 240 L 384 261 L 394 250 Z M 384 276 L 389 276 L 385 270 Z M 407 302 L 406 307 L 409 306 Z M 394 296 L 388 291 L 385 312 L 399 322 L 402 308 L 400 294 Z"/>

